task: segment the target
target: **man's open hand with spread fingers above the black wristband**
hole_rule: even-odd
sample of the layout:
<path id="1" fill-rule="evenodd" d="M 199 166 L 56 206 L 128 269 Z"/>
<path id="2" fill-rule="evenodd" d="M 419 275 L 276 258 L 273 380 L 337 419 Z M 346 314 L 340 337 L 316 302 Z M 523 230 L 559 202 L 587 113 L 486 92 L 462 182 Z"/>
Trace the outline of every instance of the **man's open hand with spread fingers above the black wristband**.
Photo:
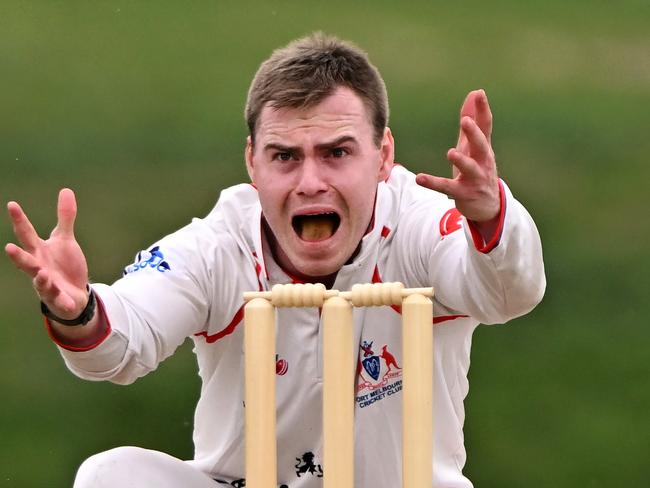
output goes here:
<path id="1" fill-rule="evenodd" d="M 55 315 L 76 318 L 88 302 L 88 266 L 74 236 L 74 193 L 69 189 L 59 192 L 57 225 L 47 240 L 38 236 L 20 205 L 9 202 L 7 210 L 22 246 L 7 244 L 7 256 L 32 278 L 36 293 Z"/>

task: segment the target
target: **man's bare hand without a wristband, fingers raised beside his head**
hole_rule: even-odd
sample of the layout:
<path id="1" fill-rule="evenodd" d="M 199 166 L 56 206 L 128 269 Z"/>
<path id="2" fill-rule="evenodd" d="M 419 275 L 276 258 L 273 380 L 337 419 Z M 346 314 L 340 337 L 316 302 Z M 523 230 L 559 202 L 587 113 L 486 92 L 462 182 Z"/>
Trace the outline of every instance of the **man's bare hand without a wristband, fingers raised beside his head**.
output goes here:
<path id="1" fill-rule="evenodd" d="M 445 193 L 467 219 L 491 227 L 500 211 L 499 180 L 492 150 L 492 112 L 483 90 L 467 95 L 460 111 L 460 134 L 447 152 L 453 178 L 421 173 L 418 184 Z M 483 232 L 482 232 L 483 233 Z"/>

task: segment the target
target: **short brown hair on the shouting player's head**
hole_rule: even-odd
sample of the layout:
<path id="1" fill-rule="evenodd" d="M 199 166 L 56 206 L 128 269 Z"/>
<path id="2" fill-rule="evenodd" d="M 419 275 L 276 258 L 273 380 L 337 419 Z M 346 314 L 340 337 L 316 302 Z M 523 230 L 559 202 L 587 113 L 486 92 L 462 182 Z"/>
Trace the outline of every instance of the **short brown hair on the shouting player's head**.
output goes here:
<path id="1" fill-rule="evenodd" d="M 339 86 L 363 101 L 380 145 L 388 124 L 388 95 L 368 55 L 350 42 L 316 32 L 277 49 L 264 61 L 251 83 L 245 117 L 251 141 L 265 104 L 275 108 L 309 108 Z"/>

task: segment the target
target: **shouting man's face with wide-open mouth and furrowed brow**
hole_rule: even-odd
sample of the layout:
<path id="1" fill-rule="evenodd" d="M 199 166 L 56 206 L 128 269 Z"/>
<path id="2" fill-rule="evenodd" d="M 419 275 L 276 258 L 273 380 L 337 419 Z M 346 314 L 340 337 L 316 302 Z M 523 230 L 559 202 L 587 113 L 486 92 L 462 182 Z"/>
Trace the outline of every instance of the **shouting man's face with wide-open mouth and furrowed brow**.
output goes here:
<path id="1" fill-rule="evenodd" d="M 352 256 L 372 218 L 377 183 L 393 165 L 363 102 L 338 88 L 308 109 L 264 107 L 246 166 L 259 192 L 279 264 L 298 277 L 328 276 Z"/>

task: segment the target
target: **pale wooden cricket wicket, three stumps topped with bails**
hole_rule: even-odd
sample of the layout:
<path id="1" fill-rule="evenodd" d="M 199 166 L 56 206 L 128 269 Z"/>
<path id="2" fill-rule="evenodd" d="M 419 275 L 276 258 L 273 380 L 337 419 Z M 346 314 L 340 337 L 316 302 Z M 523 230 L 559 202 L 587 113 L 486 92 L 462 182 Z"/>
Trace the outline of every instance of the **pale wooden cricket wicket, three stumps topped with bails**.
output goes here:
<path id="1" fill-rule="evenodd" d="M 355 361 L 352 308 L 402 307 L 402 486 L 433 483 L 433 288 L 401 283 L 275 285 L 246 292 L 246 486 L 277 487 L 275 308 L 322 307 L 323 465 L 325 488 L 354 488 Z"/>

